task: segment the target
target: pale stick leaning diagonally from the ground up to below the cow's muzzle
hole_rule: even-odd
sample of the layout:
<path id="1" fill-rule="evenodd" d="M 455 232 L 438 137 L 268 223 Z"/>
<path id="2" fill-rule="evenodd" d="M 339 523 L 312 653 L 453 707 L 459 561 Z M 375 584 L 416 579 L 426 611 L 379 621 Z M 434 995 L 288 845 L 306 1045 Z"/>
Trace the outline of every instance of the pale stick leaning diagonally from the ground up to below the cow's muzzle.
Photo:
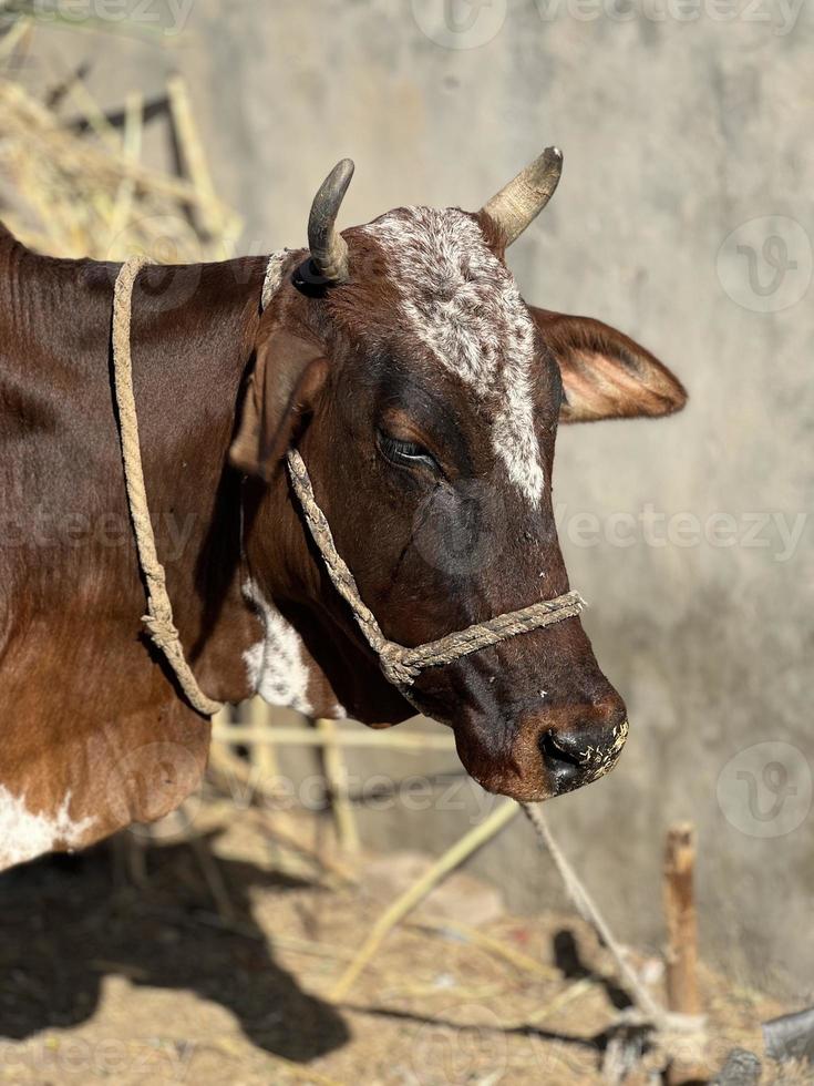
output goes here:
<path id="1" fill-rule="evenodd" d="M 405 890 L 403 894 L 396 898 L 384 910 L 373 925 L 370 935 L 359 949 L 356 957 L 333 986 L 329 995 L 332 1002 L 338 1003 L 348 995 L 354 981 L 379 950 L 379 946 L 391 929 L 406 916 L 450 871 L 453 871 L 458 864 L 463 863 L 481 846 L 492 840 L 493 837 L 507 826 L 516 817 L 519 809 L 514 800 L 508 800 L 499 807 L 496 807 L 483 822 L 474 827 L 474 829 L 471 829 L 451 849 L 447 849 L 443 856 L 439 857 L 432 867 L 412 887 Z"/>

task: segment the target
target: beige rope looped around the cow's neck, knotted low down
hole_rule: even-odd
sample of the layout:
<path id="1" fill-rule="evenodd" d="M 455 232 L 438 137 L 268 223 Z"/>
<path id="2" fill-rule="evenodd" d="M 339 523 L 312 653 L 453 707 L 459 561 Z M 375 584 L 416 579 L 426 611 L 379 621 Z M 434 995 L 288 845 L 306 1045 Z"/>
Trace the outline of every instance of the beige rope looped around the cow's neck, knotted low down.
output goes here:
<path id="1" fill-rule="evenodd" d="M 147 491 L 144 485 L 142 450 L 138 441 L 138 417 L 135 396 L 133 395 L 130 328 L 133 285 L 141 269 L 148 263 L 146 257 L 134 256 L 122 265 L 113 291 L 112 331 L 113 379 L 119 409 L 124 480 L 138 562 L 147 588 L 147 614 L 142 615 L 142 622 L 146 626 L 153 644 L 164 653 L 187 701 L 204 716 L 213 716 L 223 706 L 219 701 L 213 701 L 204 694 L 184 656 L 178 631 L 173 623 L 173 605 L 167 595 L 166 573 L 155 549 L 155 534 L 150 519 Z"/>

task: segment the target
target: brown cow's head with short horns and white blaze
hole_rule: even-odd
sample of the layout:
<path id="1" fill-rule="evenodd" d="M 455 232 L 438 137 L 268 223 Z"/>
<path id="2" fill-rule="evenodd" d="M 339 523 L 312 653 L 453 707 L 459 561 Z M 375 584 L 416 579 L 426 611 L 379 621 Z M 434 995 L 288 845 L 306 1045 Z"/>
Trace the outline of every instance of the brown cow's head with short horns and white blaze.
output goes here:
<path id="1" fill-rule="evenodd" d="M 363 601 L 388 638 L 416 645 L 568 590 L 552 503 L 559 422 L 684 402 L 621 332 L 523 300 L 504 253 L 560 168 L 549 150 L 476 214 L 402 207 L 340 235 L 346 161 L 315 201 L 310 253 L 285 263 L 233 461 L 255 477 L 253 597 L 281 612 L 278 637 L 285 626 L 298 638 L 290 666 L 310 673 L 316 715 L 337 700 L 370 724 L 413 709 L 310 546 L 284 467 L 291 444 Z M 429 668 L 411 696 L 453 728 L 475 779 L 522 800 L 596 779 L 627 734 L 578 618 Z"/>

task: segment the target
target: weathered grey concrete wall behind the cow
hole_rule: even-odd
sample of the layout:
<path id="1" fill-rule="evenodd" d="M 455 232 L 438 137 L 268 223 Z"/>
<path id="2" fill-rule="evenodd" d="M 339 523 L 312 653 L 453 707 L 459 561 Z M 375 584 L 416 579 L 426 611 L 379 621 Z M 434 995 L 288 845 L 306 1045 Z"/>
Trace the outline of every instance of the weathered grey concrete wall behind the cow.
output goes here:
<path id="1" fill-rule="evenodd" d="M 691 402 L 669 421 L 560 437 L 563 546 L 631 734 L 618 769 L 550 803 L 550 819 L 621 935 L 653 944 L 664 829 L 694 820 L 707 955 L 763 982 L 789 973 L 802 1001 L 814 976 L 811 7 L 450 0 L 447 13 L 457 33 L 442 0 L 194 0 L 169 48 L 49 32 L 33 70 L 53 79 L 48 57 L 86 55 L 105 104 L 184 71 L 253 252 L 302 243 L 312 192 L 344 154 L 358 167 L 350 224 L 402 203 L 476 207 L 545 144 L 564 148 L 556 198 L 511 253 L 525 295 L 617 324 L 674 367 Z M 379 844 L 441 848 L 464 826 L 436 810 L 365 818 Z M 517 823 L 476 863 L 517 908 L 560 900 L 534 848 Z"/>

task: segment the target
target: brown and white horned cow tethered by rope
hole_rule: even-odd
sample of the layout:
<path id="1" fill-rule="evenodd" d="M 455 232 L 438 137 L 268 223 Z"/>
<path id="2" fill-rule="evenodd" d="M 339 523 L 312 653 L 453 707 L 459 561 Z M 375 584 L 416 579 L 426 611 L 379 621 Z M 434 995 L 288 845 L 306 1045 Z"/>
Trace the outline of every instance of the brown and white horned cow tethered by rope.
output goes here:
<path id="1" fill-rule="evenodd" d="M 389 638 L 427 642 L 567 590 L 558 420 L 660 416 L 686 397 L 615 329 L 522 300 L 504 249 L 559 163 L 547 152 L 477 214 L 399 208 L 343 235 L 340 164 L 310 256 L 279 257 L 265 311 L 265 258 L 138 276 L 151 513 L 210 697 L 259 691 L 380 725 L 413 714 L 308 539 L 291 444 Z M 140 621 L 111 392 L 116 273 L 0 234 L 0 867 L 164 814 L 206 761 L 209 725 Z M 524 800 L 607 770 L 627 728 L 578 618 L 427 668 L 412 695 L 473 777 Z"/>

